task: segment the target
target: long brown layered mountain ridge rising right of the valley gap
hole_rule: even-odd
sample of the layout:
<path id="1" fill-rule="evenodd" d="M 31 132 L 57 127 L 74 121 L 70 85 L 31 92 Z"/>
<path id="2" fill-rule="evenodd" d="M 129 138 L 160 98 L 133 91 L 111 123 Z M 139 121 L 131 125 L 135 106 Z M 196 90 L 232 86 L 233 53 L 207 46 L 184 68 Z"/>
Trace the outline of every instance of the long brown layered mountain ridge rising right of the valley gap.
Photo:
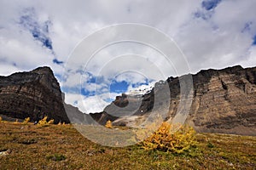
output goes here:
<path id="1" fill-rule="evenodd" d="M 172 119 L 178 111 L 183 112 L 179 110 L 180 87 L 183 83 L 191 83 L 185 81 L 188 76 L 169 77 L 156 83 L 147 94 L 117 96 L 93 118 L 101 124 L 111 120 L 116 125 L 135 126 L 135 122 L 143 122 L 149 114 L 160 112 L 165 106 L 164 99 L 155 104 L 154 98 L 167 92 L 161 87 L 168 83 L 171 101 L 165 119 Z M 200 71 L 191 76 L 194 88 L 183 92 L 187 99 L 192 98 L 187 123 L 198 132 L 256 135 L 256 67 L 243 69 L 237 65 L 223 70 Z"/>

